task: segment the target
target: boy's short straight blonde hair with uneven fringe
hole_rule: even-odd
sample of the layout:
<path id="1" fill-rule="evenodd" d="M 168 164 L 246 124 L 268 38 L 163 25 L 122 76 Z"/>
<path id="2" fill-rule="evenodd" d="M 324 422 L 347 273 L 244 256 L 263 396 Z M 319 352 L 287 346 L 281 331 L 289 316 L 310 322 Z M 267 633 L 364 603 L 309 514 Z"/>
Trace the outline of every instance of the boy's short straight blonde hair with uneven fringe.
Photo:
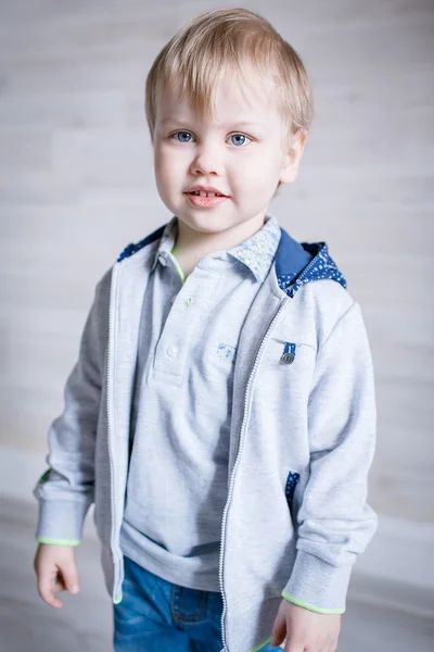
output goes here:
<path id="1" fill-rule="evenodd" d="M 145 114 L 154 140 L 156 106 L 166 84 L 176 84 L 201 115 L 214 115 L 216 82 L 232 73 L 244 83 L 273 83 L 288 136 L 308 131 L 312 116 L 309 83 L 295 50 L 259 14 L 219 9 L 182 26 L 156 57 L 145 84 Z"/>

